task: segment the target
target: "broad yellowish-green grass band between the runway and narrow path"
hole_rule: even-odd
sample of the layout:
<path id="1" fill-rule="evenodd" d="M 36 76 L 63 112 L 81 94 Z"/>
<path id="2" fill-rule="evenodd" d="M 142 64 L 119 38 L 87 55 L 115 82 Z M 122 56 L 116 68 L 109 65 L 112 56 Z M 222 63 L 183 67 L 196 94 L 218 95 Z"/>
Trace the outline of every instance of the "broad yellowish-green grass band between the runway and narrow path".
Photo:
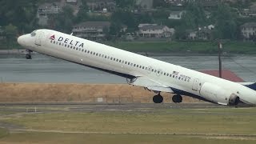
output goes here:
<path id="1" fill-rule="evenodd" d="M 228 111 L 230 110 L 230 111 Z M 253 108 L 255 111 L 255 108 Z M 176 134 L 256 134 L 256 115 L 241 109 L 240 114 L 229 114 L 233 109 L 166 110 L 142 112 L 94 112 L 24 114 L 10 117 L 10 122 L 33 130 L 64 130 L 106 133 L 176 133 Z M 243 114 L 249 113 L 249 114 Z"/>

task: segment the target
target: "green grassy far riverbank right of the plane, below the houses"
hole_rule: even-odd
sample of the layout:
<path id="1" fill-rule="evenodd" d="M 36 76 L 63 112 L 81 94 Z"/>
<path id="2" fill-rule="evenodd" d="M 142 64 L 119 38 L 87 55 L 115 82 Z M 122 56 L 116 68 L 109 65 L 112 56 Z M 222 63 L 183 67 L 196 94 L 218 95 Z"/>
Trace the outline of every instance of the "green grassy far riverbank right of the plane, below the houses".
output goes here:
<path id="1" fill-rule="evenodd" d="M 106 42 L 106 45 L 134 52 L 218 53 L 217 42 Z M 222 46 L 226 52 L 256 54 L 254 42 L 223 42 Z"/>

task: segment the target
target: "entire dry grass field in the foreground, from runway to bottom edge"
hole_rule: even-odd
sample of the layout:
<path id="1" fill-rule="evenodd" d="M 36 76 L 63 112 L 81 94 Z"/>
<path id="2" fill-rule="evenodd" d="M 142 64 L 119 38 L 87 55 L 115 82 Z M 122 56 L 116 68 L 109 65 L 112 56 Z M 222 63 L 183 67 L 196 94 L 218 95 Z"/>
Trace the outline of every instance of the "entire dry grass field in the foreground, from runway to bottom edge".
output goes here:
<path id="1" fill-rule="evenodd" d="M 2 143 L 255 143 L 256 108 L 1 114 Z M 31 131 L 32 130 L 32 131 Z"/>

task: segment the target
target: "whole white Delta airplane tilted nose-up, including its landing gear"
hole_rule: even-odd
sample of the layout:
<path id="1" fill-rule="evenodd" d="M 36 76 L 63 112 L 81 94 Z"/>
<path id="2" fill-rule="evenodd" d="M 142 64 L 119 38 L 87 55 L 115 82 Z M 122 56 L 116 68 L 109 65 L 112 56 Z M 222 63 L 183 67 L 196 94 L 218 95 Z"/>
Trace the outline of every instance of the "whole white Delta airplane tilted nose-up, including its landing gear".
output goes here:
<path id="1" fill-rule="evenodd" d="M 230 82 L 73 34 L 40 29 L 18 37 L 18 43 L 26 47 L 27 59 L 36 51 L 126 78 L 130 85 L 154 91 L 154 103 L 162 103 L 161 92 L 167 92 L 174 94 L 175 103 L 182 102 L 182 95 L 186 95 L 225 106 L 240 102 L 256 105 L 256 82 Z"/>

